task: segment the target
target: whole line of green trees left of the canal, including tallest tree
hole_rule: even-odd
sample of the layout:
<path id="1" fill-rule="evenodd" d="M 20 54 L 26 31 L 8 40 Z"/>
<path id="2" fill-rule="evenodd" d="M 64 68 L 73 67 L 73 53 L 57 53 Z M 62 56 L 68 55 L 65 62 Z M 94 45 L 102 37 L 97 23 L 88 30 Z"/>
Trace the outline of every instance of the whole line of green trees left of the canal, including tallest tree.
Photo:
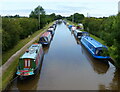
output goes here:
<path id="1" fill-rule="evenodd" d="M 40 18 L 40 22 L 38 18 Z M 2 17 L 3 53 L 12 49 L 19 40 L 28 37 L 35 31 L 43 28 L 46 24 L 60 18 L 62 18 L 62 16 L 55 15 L 55 13 L 47 15 L 41 6 L 36 7 L 30 13 L 29 18 L 19 15 Z"/>

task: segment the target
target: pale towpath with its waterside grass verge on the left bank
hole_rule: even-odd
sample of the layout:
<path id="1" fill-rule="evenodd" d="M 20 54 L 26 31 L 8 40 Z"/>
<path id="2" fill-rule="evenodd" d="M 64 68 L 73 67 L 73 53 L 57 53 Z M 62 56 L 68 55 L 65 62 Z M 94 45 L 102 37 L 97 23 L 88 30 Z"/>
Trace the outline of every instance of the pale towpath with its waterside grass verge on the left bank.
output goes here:
<path id="1" fill-rule="evenodd" d="M 47 31 L 47 29 L 52 25 L 53 23 L 50 23 L 46 25 L 43 29 L 37 31 L 31 37 L 31 41 L 29 41 L 25 46 L 23 46 L 20 50 L 18 50 L 15 54 L 13 54 L 8 61 L 0 67 L 2 70 L 2 73 L 0 77 L 2 77 L 2 82 L 1 82 L 1 88 L 0 90 L 6 89 L 6 87 L 10 84 L 11 80 L 14 77 L 14 73 L 16 72 L 17 64 L 19 61 L 19 57 L 25 52 L 25 50 L 34 42 L 38 41 L 39 37 Z M 26 41 L 26 40 L 25 40 Z"/>

